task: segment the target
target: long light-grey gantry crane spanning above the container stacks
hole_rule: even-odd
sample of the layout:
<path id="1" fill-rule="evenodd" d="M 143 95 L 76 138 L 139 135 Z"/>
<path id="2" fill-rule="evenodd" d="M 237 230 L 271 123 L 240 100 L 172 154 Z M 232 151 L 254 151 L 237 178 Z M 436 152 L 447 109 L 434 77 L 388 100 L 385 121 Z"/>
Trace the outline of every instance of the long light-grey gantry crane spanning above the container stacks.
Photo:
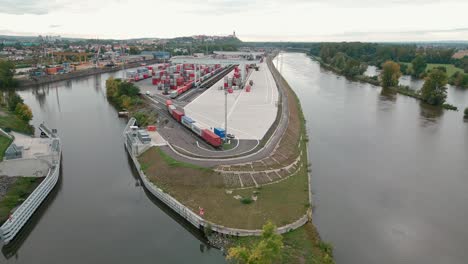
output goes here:
<path id="1" fill-rule="evenodd" d="M 245 65 L 257 64 L 257 60 L 246 60 L 238 58 L 226 58 L 226 59 L 217 59 L 212 57 L 193 57 L 193 56 L 175 56 L 170 59 L 172 63 L 185 63 L 185 64 L 195 64 L 196 65 L 215 65 L 220 64 L 222 66 L 228 65 L 239 65 L 241 72 L 241 83 L 244 84 L 247 78 L 247 73 L 245 70 Z"/>

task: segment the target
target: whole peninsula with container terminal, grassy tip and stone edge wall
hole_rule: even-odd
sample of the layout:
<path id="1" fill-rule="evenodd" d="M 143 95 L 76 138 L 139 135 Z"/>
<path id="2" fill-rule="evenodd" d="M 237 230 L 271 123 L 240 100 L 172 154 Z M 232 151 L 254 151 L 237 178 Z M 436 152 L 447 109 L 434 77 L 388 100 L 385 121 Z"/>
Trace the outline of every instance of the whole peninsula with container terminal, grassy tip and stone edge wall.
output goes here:
<path id="1" fill-rule="evenodd" d="M 210 58 L 174 57 L 171 65 L 149 67 L 168 69 L 169 81 L 165 83 L 169 84 L 185 75 L 179 85 L 158 87 L 158 81 L 149 77 L 136 81 L 146 102 L 157 109 L 159 119 L 155 126 L 138 127 L 131 118 L 123 132 L 126 149 L 146 188 L 196 228 L 252 236 L 261 234 L 264 217 L 279 224 L 279 233 L 294 230 L 310 219 L 310 208 L 303 206 L 311 204 L 312 196 L 307 187 L 307 146 L 302 144 L 298 106 L 267 56 L 220 52 Z M 206 80 L 198 81 L 197 72 L 191 75 L 191 69 L 198 67 L 214 72 L 208 80 L 217 81 L 204 86 Z M 188 78 L 182 69 L 189 69 Z M 171 97 L 171 90 L 187 84 L 195 85 Z M 192 91 L 197 92 L 190 100 L 181 100 Z M 205 169 L 193 167 L 178 173 L 176 168 L 168 170 L 157 156 L 174 164 L 190 164 L 182 168 Z M 206 175 L 198 179 L 200 173 Z M 300 187 L 289 186 L 294 182 Z M 269 198 L 261 198 L 261 203 L 249 208 L 234 202 L 252 192 L 251 188 L 260 187 L 273 195 L 283 188 L 305 188 L 307 192 L 289 194 L 284 198 L 290 201 L 280 204 Z M 253 197 L 258 199 L 255 191 Z M 218 208 L 222 204 L 228 211 Z M 277 210 L 289 211 L 290 206 L 294 212 L 277 214 Z M 207 217 L 205 209 L 210 212 Z M 249 211 L 244 212 L 246 219 L 232 221 L 234 212 L 244 210 Z"/>

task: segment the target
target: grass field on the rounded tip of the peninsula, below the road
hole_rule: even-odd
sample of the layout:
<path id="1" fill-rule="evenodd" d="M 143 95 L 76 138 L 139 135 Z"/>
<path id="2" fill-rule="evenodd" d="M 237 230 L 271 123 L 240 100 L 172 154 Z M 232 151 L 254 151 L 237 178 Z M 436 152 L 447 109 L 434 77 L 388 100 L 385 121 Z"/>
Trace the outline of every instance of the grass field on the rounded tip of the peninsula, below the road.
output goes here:
<path id="1" fill-rule="evenodd" d="M 143 153 L 139 161 L 154 184 L 194 212 L 202 207 L 204 218 L 227 227 L 261 229 L 267 220 L 282 226 L 296 221 L 309 208 L 306 167 L 279 183 L 227 193 L 217 172 L 172 160 L 157 147 Z M 234 198 L 237 195 L 256 195 L 257 201 L 243 204 Z"/>

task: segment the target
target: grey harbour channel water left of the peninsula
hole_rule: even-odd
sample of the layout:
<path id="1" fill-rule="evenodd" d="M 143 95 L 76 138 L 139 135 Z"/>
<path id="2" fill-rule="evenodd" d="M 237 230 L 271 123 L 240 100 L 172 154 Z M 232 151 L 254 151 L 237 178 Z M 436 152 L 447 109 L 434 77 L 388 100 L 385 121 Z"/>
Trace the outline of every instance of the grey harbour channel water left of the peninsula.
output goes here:
<path id="1" fill-rule="evenodd" d="M 125 120 L 102 74 L 20 91 L 37 127 L 63 141 L 61 181 L 0 263 L 220 263 L 196 230 L 140 185 L 124 149 Z M 179 223 L 180 222 L 180 223 Z"/>

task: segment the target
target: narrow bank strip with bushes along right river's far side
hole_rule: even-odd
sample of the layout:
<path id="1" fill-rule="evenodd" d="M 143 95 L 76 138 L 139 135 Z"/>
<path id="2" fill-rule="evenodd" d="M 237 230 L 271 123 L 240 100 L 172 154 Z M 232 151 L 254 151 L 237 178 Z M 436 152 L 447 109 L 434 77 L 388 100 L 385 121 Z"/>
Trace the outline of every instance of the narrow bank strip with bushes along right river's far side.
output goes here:
<path id="1" fill-rule="evenodd" d="M 309 55 L 309 56 L 313 60 L 317 61 L 320 64 L 320 66 L 323 67 L 324 69 L 330 70 L 330 71 L 332 71 L 332 72 L 334 72 L 334 73 L 336 73 L 338 75 L 344 76 L 340 69 L 338 69 L 336 67 L 333 67 L 330 64 L 325 63 L 320 57 L 313 56 L 313 55 Z M 346 78 L 351 80 L 351 81 L 369 83 L 369 84 L 379 86 L 379 87 L 381 86 L 378 79 L 372 78 L 372 77 L 369 77 L 369 76 L 357 75 L 357 76 L 354 76 L 354 77 L 346 77 Z M 405 95 L 405 96 L 413 97 L 413 98 L 418 99 L 420 101 L 423 101 L 423 98 L 422 98 L 421 94 L 418 91 L 410 89 L 408 86 L 398 85 L 397 87 L 389 87 L 389 88 L 385 88 L 385 89 L 388 89 L 390 91 L 393 91 L 395 93 L 399 93 L 399 94 L 402 94 L 402 95 Z M 458 111 L 458 108 L 456 106 L 448 104 L 448 103 L 444 103 L 443 105 L 441 105 L 439 107 L 441 107 L 443 109 L 447 109 L 447 110 Z"/>

